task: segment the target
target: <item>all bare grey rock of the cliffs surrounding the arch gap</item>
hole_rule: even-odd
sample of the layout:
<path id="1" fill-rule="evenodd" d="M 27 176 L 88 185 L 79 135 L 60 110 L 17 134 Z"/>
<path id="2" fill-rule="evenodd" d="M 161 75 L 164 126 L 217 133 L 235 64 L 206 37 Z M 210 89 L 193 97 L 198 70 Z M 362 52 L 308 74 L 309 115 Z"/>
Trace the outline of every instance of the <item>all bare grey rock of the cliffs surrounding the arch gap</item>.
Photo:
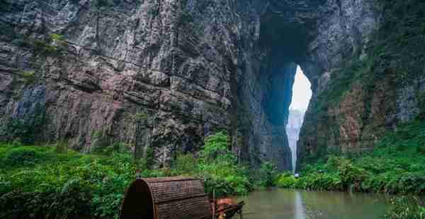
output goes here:
<path id="1" fill-rule="evenodd" d="M 377 115 L 370 121 L 387 121 L 392 113 L 382 109 L 394 105 L 397 118 L 408 120 L 421 110 L 412 98 L 424 80 L 386 92 L 394 86 L 388 79 L 374 87 L 370 109 L 361 105 L 365 89 L 353 85 L 341 105 L 314 113 L 322 100 L 331 100 L 327 90 L 334 90 L 335 76 L 350 75 L 337 71 L 347 60 L 370 58 L 373 32 L 390 20 L 378 0 L 0 4 L 2 140 L 68 141 L 88 152 L 104 138 L 145 155 L 150 148 L 154 161 L 167 165 L 176 153 L 196 152 L 205 136 L 225 129 L 241 162 L 272 160 L 290 170 L 285 125 L 296 64 L 314 93 L 301 157 L 321 148 L 318 141 L 327 145 L 335 136 L 364 131 L 361 111 L 335 118 L 342 125 L 334 136 L 329 121 L 318 120 L 322 115 L 333 118 L 360 104 Z M 397 98 L 387 100 L 389 93 Z"/>

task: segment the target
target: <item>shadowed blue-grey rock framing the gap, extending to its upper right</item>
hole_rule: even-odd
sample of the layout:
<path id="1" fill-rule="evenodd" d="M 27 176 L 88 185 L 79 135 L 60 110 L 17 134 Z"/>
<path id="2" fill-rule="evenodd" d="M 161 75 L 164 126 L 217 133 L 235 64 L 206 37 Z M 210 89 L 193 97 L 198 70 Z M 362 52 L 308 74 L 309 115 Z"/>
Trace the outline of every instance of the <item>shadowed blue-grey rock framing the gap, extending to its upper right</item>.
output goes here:
<path id="1" fill-rule="evenodd" d="M 245 160 L 273 160 L 280 169 L 290 169 L 284 127 L 295 64 L 301 66 L 312 83 L 314 100 L 327 88 L 330 72 L 346 59 L 365 55 L 370 35 L 378 28 L 377 4 L 378 1 L 268 1 L 263 5 L 258 44 L 254 44 L 254 54 L 242 56 L 245 66 L 239 76 L 237 131 L 248 138 L 248 147 L 241 149 L 242 155 L 249 155 Z M 314 114 L 310 119 L 314 120 Z M 312 132 L 314 129 L 317 127 Z M 319 138 L 312 133 L 308 137 Z M 303 150 L 298 151 L 304 156 L 300 152 Z"/>

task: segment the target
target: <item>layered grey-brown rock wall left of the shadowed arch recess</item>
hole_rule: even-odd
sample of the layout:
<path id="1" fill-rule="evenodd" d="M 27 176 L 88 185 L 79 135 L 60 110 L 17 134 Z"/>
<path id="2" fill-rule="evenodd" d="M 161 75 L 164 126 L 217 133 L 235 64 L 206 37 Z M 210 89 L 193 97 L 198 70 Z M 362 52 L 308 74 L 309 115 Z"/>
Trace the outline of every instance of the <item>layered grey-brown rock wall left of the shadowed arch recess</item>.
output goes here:
<path id="1" fill-rule="evenodd" d="M 23 138 L 21 126 L 40 130 L 28 142 L 64 139 L 82 151 L 96 148 L 94 138 L 133 147 L 140 139 L 167 164 L 229 129 L 238 28 L 230 4 L 1 2 L 3 140 Z"/>

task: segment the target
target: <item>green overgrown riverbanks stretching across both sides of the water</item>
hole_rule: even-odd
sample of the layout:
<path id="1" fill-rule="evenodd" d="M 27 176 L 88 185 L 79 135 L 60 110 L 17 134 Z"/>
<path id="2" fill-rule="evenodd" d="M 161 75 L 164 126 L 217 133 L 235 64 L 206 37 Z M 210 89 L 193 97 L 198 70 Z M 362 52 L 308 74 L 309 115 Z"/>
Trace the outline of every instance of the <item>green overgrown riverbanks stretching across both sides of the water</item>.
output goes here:
<path id="1" fill-rule="evenodd" d="M 64 143 L 3 143 L 0 218 L 117 218 L 125 188 L 135 179 L 136 170 L 142 170 L 142 177 L 196 176 L 203 179 L 208 194 L 215 189 L 217 196 L 246 195 L 273 186 L 419 196 L 425 187 L 424 130 L 423 122 L 400 126 L 397 132 L 382 138 L 373 153 L 327 155 L 306 165 L 299 179 L 293 174 L 278 174 L 267 162 L 259 170 L 238 165 L 222 132 L 206 139 L 198 157 L 179 155 L 170 167 L 161 169 L 152 166 L 149 155 L 134 160 L 122 143 L 91 154 L 69 150 Z M 392 206 L 387 218 L 425 216 L 419 199 L 399 197 Z"/>

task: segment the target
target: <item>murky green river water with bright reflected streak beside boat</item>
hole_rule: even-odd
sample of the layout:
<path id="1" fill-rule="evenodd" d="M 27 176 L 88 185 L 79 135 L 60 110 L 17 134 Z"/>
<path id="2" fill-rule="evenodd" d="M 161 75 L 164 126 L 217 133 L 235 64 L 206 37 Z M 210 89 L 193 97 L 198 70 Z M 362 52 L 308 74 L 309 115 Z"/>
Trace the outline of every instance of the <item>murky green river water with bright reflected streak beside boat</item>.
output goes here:
<path id="1" fill-rule="evenodd" d="M 375 219 L 385 213 L 387 200 L 377 194 L 271 189 L 239 197 L 244 219 Z"/>

